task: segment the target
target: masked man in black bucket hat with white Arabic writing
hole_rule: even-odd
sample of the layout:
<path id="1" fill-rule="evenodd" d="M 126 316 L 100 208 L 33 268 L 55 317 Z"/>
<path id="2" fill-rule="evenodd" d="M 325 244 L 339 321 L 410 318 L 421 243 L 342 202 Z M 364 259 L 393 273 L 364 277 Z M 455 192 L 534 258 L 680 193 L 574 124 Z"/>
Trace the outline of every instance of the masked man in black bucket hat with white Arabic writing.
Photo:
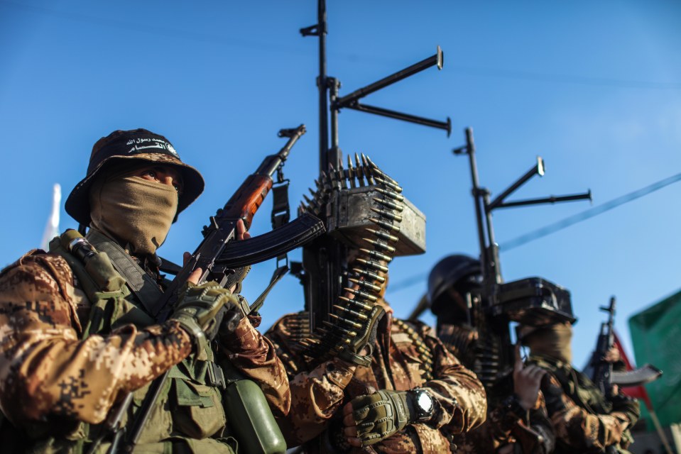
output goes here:
<path id="1" fill-rule="evenodd" d="M 14 441 L 19 452 L 106 452 L 107 415 L 133 393 L 122 417 L 129 428 L 151 381 L 168 370 L 136 453 L 235 452 L 220 365 L 257 382 L 273 411 L 288 412 L 283 365 L 230 289 L 197 285 L 195 273 L 168 321 L 149 315 L 163 289 L 156 249 L 203 186 L 162 135 L 114 131 L 94 144 L 66 210 L 89 226 L 85 238 L 98 252 L 73 253 L 64 240 L 77 239 L 71 231 L 50 253 L 32 250 L 0 273 L 3 449 Z"/>

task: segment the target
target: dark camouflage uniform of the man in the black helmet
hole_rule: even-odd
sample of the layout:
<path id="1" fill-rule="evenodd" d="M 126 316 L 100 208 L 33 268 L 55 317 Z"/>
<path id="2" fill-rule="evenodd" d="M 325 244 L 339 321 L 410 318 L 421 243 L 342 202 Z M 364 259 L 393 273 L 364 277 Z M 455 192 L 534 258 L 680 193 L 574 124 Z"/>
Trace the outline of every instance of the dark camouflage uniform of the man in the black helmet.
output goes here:
<path id="1" fill-rule="evenodd" d="M 474 365 L 474 331 L 442 324 L 440 339 L 464 365 Z M 547 454 L 553 451 L 555 434 L 548 418 L 544 396 L 539 392 L 533 408 L 525 411 L 512 400 L 513 377 L 503 377 L 492 389 L 487 389 L 489 412 L 486 421 L 467 433 L 454 437 L 458 453 L 494 453 L 503 445 L 518 443 L 526 454 Z M 540 436 L 541 438 L 538 438 Z"/>

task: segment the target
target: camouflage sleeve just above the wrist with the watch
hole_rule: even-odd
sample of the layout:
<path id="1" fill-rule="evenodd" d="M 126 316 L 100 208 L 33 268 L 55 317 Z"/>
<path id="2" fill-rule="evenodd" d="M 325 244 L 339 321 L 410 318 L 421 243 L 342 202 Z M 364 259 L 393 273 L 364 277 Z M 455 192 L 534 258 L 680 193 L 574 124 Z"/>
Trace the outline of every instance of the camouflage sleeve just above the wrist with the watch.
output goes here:
<path id="1" fill-rule="evenodd" d="M 428 422 L 433 428 L 446 427 L 450 433 L 461 433 L 479 426 L 486 419 L 485 389 L 476 375 L 461 365 L 432 328 L 425 327 L 423 337 L 433 355 L 433 380 L 422 387 L 435 399 L 435 414 Z"/>

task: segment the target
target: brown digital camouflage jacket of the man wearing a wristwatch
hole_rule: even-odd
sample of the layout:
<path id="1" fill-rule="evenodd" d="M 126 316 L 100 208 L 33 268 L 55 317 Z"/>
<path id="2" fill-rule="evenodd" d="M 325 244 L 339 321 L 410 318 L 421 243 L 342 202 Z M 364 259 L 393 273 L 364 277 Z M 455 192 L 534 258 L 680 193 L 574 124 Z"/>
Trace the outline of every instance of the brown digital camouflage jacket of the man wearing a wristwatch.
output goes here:
<path id="1" fill-rule="evenodd" d="M 339 423 L 337 412 L 352 398 L 378 389 L 428 389 L 435 399 L 435 414 L 428 423 L 411 424 L 353 453 L 448 453 L 452 434 L 484 421 L 482 384 L 425 324 L 385 316 L 378 326 L 371 367 L 356 367 L 338 359 L 315 365 L 302 355 L 297 331 L 305 323 L 307 313 L 289 314 L 266 333 L 289 373 L 293 402 L 288 417 L 280 419 L 289 445 L 304 443 L 308 453 L 332 452 L 322 433 Z"/>

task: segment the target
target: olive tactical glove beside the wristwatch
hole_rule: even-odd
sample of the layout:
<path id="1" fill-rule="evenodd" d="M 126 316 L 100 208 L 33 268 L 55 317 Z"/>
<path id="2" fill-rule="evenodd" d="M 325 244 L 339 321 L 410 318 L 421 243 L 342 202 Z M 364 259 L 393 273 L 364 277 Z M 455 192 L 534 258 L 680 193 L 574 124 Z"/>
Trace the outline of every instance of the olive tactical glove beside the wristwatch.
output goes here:
<path id="1" fill-rule="evenodd" d="M 389 389 L 352 399 L 352 417 L 362 445 L 378 443 L 415 422 L 417 414 L 410 400 L 408 392 Z"/>

